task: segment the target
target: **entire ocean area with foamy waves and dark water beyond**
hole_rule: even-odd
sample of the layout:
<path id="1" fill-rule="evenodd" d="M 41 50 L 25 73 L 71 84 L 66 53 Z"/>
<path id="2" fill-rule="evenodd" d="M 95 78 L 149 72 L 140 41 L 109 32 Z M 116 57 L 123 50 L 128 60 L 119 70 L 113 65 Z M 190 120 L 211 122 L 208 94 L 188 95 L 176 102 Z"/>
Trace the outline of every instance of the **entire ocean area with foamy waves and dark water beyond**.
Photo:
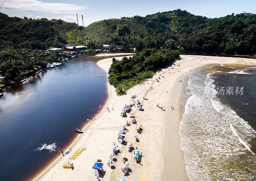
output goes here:
<path id="1" fill-rule="evenodd" d="M 189 179 L 256 180 L 256 68 L 211 65 L 187 80 L 180 136 Z"/>

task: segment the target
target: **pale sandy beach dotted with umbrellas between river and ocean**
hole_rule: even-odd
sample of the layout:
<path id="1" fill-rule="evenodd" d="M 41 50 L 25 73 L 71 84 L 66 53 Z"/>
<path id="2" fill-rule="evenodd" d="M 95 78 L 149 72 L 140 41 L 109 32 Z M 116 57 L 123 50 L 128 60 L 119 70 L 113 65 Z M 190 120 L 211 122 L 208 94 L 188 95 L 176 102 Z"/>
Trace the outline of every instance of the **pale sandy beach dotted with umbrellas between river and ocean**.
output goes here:
<path id="1" fill-rule="evenodd" d="M 116 58 L 116 57 L 115 57 Z M 183 84 L 179 80 L 185 79 L 197 68 L 208 64 L 241 64 L 254 62 L 254 59 L 227 58 L 227 57 L 209 57 L 182 55 L 181 60 L 173 66 L 165 68 L 149 79 L 144 84 L 136 85 L 127 91 L 127 95 L 117 96 L 113 86 L 109 85 L 109 99 L 95 123 L 89 123 L 84 128 L 84 133 L 72 145 L 72 152 L 65 156 L 60 156 L 50 169 L 46 169 L 36 180 L 97 180 L 93 173 L 92 165 L 97 159 L 104 163 L 104 172 L 100 176 L 101 181 L 115 181 L 125 178 L 127 181 L 136 180 L 189 180 L 186 172 L 184 152 L 180 149 L 180 121 L 182 120 L 182 107 L 180 103 L 181 90 Z M 119 59 L 119 58 L 116 58 Z M 100 60 L 97 64 L 108 71 L 112 63 L 112 58 Z M 180 66 L 177 66 L 177 65 Z M 191 71 L 190 71 L 191 70 Z M 169 73 L 170 72 L 170 73 Z M 156 78 L 161 77 L 160 82 Z M 153 90 L 150 91 L 150 87 Z M 168 92 L 167 92 L 168 91 Z M 139 111 L 137 107 L 132 107 L 138 124 L 142 125 L 143 132 L 138 134 L 136 125 L 128 126 L 128 132 L 124 134 L 126 141 L 132 141 L 134 147 L 138 147 L 142 152 L 140 163 L 136 163 L 132 153 L 126 146 L 117 143 L 118 132 L 122 129 L 125 120 L 120 111 L 124 105 L 129 104 L 131 94 L 137 95 L 140 99 L 144 111 Z M 142 97 L 148 98 L 143 100 Z M 156 107 L 156 103 L 164 105 L 164 109 Z M 174 106 L 174 110 L 171 109 Z M 110 112 L 107 111 L 109 107 Z M 133 138 L 138 135 L 139 142 Z M 108 167 L 107 162 L 112 153 L 113 144 L 117 144 L 121 153 L 113 159 L 114 167 Z M 78 148 L 86 147 L 75 160 L 74 170 L 64 169 L 62 165 L 72 156 Z M 123 165 L 122 153 L 125 153 L 130 163 L 132 172 L 124 174 L 121 170 Z"/>

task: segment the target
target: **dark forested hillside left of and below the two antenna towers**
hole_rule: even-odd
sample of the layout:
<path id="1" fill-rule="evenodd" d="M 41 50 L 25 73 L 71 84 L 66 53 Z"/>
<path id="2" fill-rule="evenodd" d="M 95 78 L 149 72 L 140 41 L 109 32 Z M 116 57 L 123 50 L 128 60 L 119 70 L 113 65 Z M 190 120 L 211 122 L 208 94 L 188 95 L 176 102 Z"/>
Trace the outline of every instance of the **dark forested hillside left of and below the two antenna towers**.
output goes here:
<path id="1" fill-rule="evenodd" d="M 61 48 L 76 42 L 81 28 L 62 20 L 24 20 L 0 12 L 0 49 Z"/>

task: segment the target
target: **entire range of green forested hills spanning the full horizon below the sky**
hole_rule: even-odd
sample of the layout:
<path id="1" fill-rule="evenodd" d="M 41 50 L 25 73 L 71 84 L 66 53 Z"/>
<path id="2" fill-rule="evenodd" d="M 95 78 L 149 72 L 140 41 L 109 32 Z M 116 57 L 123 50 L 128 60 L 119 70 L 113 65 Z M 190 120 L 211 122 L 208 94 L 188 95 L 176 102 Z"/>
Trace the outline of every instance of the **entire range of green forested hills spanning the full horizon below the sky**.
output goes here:
<path id="1" fill-rule="evenodd" d="M 84 28 L 62 20 L 21 19 L 0 13 L 0 49 L 44 50 L 68 43 L 91 49 L 113 43 L 138 51 L 179 46 L 186 52 L 255 54 L 256 14 L 206 18 L 177 9 L 97 21 Z"/>

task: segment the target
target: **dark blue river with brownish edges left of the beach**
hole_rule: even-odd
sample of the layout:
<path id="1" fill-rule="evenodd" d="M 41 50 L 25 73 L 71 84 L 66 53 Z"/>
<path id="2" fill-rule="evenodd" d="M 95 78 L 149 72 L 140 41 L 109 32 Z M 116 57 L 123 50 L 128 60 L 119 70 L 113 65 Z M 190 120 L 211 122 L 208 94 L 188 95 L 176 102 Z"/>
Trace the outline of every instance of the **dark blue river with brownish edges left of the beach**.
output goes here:
<path id="1" fill-rule="evenodd" d="M 0 180 L 31 179 L 68 149 L 78 135 L 74 129 L 82 129 L 108 98 L 107 73 L 96 64 L 103 58 L 71 58 L 6 89 L 0 98 Z"/>

